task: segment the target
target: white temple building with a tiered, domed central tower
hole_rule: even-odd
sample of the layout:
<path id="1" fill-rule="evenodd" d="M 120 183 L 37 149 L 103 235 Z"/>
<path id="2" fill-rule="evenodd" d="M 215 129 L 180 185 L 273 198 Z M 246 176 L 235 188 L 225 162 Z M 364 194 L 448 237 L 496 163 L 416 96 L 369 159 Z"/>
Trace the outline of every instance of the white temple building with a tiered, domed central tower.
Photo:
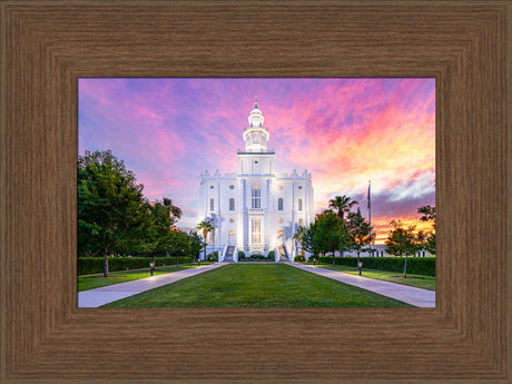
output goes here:
<path id="1" fill-rule="evenodd" d="M 275 260 L 293 260 L 302 253 L 294 234 L 315 219 L 311 173 L 276 173 L 276 154 L 267 149 L 270 135 L 264 121 L 256 101 L 236 173 L 201 174 L 199 220 L 214 225 L 206 252 L 218 250 L 219 262 L 237 262 L 239 250 L 246 256 L 274 252 Z"/>

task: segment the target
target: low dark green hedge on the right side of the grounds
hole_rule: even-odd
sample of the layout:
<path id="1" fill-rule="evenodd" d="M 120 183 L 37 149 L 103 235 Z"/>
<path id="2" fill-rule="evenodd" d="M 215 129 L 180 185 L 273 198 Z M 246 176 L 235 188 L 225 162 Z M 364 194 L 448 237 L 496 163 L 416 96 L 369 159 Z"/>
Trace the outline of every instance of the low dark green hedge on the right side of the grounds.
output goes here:
<path id="1" fill-rule="evenodd" d="M 405 257 L 360 257 L 363 269 L 404 272 Z M 333 265 L 333 256 L 319 257 L 321 263 Z M 336 265 L 357 267 L 357 257 L 336 257 Z M 407 257 L 407 274 L 435 276 L 435 257 Z"/>

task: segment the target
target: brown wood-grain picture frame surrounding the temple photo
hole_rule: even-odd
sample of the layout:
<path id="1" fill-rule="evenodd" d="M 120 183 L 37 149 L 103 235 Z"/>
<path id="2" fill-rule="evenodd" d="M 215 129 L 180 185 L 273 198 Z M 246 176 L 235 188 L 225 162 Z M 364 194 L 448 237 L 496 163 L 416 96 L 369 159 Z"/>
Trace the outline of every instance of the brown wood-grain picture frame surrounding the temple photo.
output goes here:
<path id="1" fill-rule="evenodd" d="M 511 8 L 2 1 L 0 381 L 512 383 Z M 78 77 L 435 77 L 437 307 L 78 309 Z"/>

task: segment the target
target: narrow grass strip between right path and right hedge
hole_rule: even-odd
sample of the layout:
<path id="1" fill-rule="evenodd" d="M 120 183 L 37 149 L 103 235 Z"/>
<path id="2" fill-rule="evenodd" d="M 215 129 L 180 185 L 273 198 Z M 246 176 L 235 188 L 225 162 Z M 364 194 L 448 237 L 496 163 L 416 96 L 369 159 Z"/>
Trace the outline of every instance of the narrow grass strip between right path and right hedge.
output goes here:
<path id="1" fill-rule="evenodd" d="M 313 263 L 307 263 L 307 264 L 313 265 Z M 360 274 L 356 267 L 347 267 L 344 265 L 336 265 L 335 267 L 333 267 L 333 265 L 329 265 L 329 264 L 322 264 L 322 265 L 317 264 L 317 266 L 325 268 L 325 269 L 344 272 L 351 275 Z M 417 288 L 435 291 L 435 277 L 433 276 L 421 276 L 421 275 L 407 274 L 407 278 L 404 279 L 403 272 L 400 273 L 400 272 L 388 272 L 388 270 L 380 270 L 380 269 L 365 269 L 363 267 L 363 277 L 376 278 L 378 280 L 385 280 L 385 282 L 397 283 L 397 284 L 403 284 L 403 285 L 411 285 Z"/>

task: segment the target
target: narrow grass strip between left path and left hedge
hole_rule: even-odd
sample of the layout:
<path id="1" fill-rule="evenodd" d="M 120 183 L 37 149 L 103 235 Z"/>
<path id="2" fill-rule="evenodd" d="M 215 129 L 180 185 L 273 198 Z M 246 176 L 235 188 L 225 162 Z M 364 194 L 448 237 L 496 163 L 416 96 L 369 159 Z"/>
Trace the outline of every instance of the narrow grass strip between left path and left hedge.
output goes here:
<path id="1" fill-rule="evenodd" d="M 211 263 L 201 263 L 201 265 L 211 264 Z M 187 268 L 195 268 L 197 264 L 194 265 L 180 265 L 179 267 L 167 266 L 167 267 L 157 267 L 157 270 L 154 275 L 168 274 L 170 272 L 178 272 Z M 78 292 L 88 291 L 99 287 L 105 287 L 107 285 L 126 283 L 138 280 L 139 278 L 145 278 L 150 276 L 149 268 L 147 269 L 137 269 L 137 270 L 124 270 L 124 272 L 111 272 L 108 274 L 109 277 L 105 278 L 104 274 L 78 276 Z"/>

